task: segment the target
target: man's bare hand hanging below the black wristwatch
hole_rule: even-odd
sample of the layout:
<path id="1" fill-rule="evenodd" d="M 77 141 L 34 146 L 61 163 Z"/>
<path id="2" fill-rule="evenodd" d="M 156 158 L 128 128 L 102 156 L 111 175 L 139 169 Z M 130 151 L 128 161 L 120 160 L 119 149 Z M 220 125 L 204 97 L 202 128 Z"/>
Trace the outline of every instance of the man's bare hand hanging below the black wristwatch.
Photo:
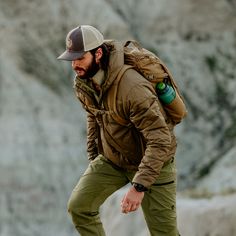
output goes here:
<path id="1" fill-rule="evenodd" d="M 137 192 L 132 186 L 121 201 L 121 211 L 125 214 L 136 211 L 141 205 L 143 197 L 144 192 Z"/>

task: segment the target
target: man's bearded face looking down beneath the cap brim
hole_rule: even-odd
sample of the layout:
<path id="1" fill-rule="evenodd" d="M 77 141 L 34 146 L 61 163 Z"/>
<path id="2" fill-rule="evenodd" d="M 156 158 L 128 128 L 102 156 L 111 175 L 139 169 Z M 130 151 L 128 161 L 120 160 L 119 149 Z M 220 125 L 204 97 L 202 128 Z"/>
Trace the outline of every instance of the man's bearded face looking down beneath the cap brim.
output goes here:
<path id="1" fill-rule="evenodd" d="M 96 62 L 95 56 L 86 52 L 83 57 L 72 61 L 72 68 L 81 79 L 88 79 L 97 73 L 99 63 Z"/>

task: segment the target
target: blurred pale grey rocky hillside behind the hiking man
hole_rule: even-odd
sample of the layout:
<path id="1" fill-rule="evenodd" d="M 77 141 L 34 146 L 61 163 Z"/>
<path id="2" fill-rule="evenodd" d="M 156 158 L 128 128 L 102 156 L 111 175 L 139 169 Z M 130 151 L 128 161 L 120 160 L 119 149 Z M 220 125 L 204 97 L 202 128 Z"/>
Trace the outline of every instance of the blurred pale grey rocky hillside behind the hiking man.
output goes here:
<path id="1" fill-rule="evenodd" d="M 0 0 L 0 236 L 75 236 L 67 200 L 88 161 L 85 112 L 69 62 L 80 24 L 136 39 L 169 67 L 188 106 L 177 126 L 182 236 L 236 235 L 235 0 Z M 107 235 L 148 235 L 102 208 Z"/>

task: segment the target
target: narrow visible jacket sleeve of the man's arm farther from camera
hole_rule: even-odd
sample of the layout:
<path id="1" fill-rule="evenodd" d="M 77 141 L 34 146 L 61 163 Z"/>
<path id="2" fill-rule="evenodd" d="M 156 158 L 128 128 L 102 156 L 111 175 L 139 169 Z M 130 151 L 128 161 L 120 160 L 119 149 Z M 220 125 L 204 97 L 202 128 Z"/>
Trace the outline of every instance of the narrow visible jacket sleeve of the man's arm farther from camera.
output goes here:
<path id="1" fill-rule="evenodd" d="M 93 160 L 98 155 L 98 124 L 95 117 L 87 113 L 87 153 L 88 159 Z"/>

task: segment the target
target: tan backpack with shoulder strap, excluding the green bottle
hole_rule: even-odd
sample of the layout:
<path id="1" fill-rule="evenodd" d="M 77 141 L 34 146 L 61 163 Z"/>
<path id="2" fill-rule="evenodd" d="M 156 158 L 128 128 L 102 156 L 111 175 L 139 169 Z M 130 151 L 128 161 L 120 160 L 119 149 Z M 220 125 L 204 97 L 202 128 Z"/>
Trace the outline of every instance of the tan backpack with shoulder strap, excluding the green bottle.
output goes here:
<path id="1" fill-rule="evenodd" d="M 119 116 L 116 108 L 116 97 L 119 82 L 126 70 L 133 68 L 146 78 L 155 88 L 159 82 L 165 82 L 173 87 L 175 90 L 175 99 L 168 105 L 164 105 L 157 99 L 165 119 L 170 119 L 173 125 L 179 124 L 187 114 L 186 105 L 183 97 L 173 79 L 170 71 L 166 65 L 152 52 L 141 47 L 136 41 L 127 41 L 124 45 L 124 63 L 125 65 L 120 70 L 113 91 L 110 93 L 108 99 L 109 110 L 112 111 L 111 115 L 115 121 L 124 126 L 129 126 L 130 121 Z M 158 97 L 158 96 L 157 96 Z"/>

